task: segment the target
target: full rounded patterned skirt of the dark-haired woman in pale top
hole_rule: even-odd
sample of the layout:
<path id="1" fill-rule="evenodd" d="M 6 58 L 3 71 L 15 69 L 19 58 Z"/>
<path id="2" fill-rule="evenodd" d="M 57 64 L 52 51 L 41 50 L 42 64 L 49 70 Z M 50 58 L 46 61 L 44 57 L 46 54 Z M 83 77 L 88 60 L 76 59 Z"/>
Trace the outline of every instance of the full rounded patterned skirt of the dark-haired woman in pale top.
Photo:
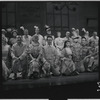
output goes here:
<path id="1" fill-rule="evenodd" d="M 71 59 L 64 59 L 62 61 L 62 66 L 61 66 L 61 73 L 64 75 L 70 75 L 72 72 L 75 71 L 75 64 Z"/>

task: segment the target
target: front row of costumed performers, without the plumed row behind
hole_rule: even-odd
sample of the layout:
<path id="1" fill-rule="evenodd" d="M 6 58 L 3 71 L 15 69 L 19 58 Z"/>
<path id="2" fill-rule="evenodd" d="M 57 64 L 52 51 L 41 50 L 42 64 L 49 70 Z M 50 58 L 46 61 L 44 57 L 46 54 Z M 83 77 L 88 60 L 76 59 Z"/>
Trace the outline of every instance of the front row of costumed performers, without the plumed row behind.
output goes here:
<path id="1" fill-rule="evenodd" d="M 8 79 L 11 73 L 10 69 L 14 73 L 14 79 L 17 79 L 18 72 L 21 72 L 23 79 L 33 79 L 51 75 L 72 76 L 85 71 L 98 70 L 98 46 L 95 46 L 94 41 L 89 42 L 89 46 L 87 46 L 85 37 L 82 37 L 81 44 L 78 42 L 78 37 L 73 38 L 73 44 L 66 40 L 63 44 L 64 48 L 62 45 L 56 46 L 57 48 L 53 46 L 52 36 L 47 36 L 47 45 L 45 46 L 39 44 L 36 34 L 29 45 L 22 42 L 20 35 L 16 39 L 17 43 L 10 48 L 6 38 L 2 36 L 2 75 L 4 80 Z"/>

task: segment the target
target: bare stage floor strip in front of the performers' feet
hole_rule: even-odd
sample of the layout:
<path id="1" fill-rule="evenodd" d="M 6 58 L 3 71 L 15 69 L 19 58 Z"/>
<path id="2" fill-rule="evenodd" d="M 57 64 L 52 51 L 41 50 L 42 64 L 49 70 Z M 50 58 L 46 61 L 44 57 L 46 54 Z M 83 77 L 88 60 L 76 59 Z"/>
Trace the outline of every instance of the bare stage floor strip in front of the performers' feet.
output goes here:
<path id="1" fill-rule="evenodd" d="M 3 82 L 4 89 L 22 89 L 22 88 L 33 88 L 33 87 L 44 87 L 44 86 L 55 86 L 55 85 L 66 85 L 76 84 L 84 82 L 96 82 L 99 80 L 98 72 L 92 73 L 80 73 L 77 76 L 52 76 L 49 78 L 40 79 L 9 79 Z"/>

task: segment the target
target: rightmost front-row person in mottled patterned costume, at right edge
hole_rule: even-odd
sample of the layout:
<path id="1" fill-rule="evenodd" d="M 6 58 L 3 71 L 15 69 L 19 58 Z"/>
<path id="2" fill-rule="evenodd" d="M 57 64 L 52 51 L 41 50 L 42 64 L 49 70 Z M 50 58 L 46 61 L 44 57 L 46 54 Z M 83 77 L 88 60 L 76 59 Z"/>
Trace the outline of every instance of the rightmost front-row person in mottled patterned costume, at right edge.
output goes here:
<path id="1" fill-rule="evenodd" d="M 87 63 L 86 71 L 97 71 L 99 66 L 99 46 L 95 45 L 95 41 L 90 42 L 89 55 L 86 56 L 85 62 Z"/>

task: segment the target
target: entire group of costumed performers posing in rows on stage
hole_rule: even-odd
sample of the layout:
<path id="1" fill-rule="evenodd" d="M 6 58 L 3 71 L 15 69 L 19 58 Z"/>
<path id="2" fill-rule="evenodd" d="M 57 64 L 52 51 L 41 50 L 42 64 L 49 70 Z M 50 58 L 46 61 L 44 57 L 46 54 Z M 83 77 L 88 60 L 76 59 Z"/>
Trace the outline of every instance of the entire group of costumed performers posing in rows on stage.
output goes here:
<path id="1" fill-rule="evenodd" d="M 28 29 L 20 27 L 24 35 L 18 35 L 12 30 L 13 37 L 6 37 L 6 30 L 2 29 L 2 77 L 17 79 L 20 72 L 23 79 L 53 76 L 73 76 L 82 72 L 98 71 L 99 37 L 94 31 L 80 36 L 79 29 L 72 28 L 65 37 L 57 32 L 57 38 L 51 33 L 51 28 L 45 26 L 46 36 L 40 34 L 38 26 L 34 26 L 35 34 L 30 36 Z"/>

